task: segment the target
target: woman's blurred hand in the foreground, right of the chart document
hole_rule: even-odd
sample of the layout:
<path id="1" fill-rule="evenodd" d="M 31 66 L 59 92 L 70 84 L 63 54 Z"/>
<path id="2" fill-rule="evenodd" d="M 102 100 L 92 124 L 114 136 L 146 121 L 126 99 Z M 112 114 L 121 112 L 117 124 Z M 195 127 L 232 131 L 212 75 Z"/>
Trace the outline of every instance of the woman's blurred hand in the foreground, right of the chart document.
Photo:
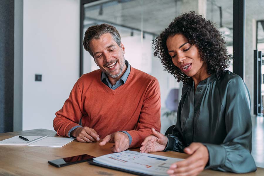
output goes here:
<path id="1" fill-rule="evenodd" d="M 173 163 L 167 174 L 171 176 L 191 176 L 198 175 L 204 170 L 209 160 L 209 153 L 202 143 L 191 143 L 191 145 L 184 148 L 184 152 L 191 156 L 186 160 Z"/>

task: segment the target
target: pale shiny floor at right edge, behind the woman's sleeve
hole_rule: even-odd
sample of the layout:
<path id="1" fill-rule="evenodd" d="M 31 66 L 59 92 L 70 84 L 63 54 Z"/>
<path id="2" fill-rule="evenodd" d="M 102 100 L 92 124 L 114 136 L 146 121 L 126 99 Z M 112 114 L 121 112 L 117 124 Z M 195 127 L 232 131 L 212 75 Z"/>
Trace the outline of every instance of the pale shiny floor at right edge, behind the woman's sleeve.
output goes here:
<path id="1" fill-rule="evenodd" d="M 264 117 L 252 116 L 252 156 L 258 167 L 264 167 Z"/>

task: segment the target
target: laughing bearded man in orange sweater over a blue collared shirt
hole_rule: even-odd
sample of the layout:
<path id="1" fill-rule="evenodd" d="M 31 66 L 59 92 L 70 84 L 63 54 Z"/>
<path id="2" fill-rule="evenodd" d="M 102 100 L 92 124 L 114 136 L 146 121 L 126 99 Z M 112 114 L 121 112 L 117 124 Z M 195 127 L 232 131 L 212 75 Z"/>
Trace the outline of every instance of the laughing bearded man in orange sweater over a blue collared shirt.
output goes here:
<path id="1" fill-rule="evenodd" d="M 160 88 L 158 80 L 131 67 L 119 32 L 108 24 L 91 26 L 84 35 L 87 50 L 99 70 L 82 75 L 53 126 L 57 134 L 79 142 L 114 143 L 121 152 L 140 147 L 151 134 L 160 131 Z"/>

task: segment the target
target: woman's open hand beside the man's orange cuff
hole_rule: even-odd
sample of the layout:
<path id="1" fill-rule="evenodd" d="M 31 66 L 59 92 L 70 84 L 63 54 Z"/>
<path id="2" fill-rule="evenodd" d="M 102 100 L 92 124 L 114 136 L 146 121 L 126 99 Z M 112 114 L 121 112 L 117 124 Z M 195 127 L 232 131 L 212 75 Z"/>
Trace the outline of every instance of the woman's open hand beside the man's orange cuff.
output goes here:
<path id="1" fill-rule="evenodd" d="M 158 152 L 166 148 L 168 138 L 151 128 L 152 135 L 145 138 L 141 144 L 140 153 Z"/>

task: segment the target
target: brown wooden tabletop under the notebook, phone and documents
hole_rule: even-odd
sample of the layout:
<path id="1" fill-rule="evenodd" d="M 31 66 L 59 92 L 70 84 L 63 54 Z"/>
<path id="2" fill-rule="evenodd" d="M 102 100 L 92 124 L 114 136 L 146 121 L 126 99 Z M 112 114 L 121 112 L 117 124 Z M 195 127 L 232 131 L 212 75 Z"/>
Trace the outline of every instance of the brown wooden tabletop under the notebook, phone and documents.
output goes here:
<path id="1" fill-rule="evenodd" d="M 17 135 L 49 135 L 50 137 L 58 137 L 55 131 L 36 129 L 28 131 L 0 133 L 0 141 Z M 90 165 L 87 162 L 69 165 L 61 168 L 57 168 L 48 164 L 48 160 L 55 160 L 64 157 L 81 155 L 85 153 L 95 157 L 109 154 L 111 153 L 111 146 L 112 144 L 110 143 L 107 143 L 105 146 L 99 146 L 98 143 L 81 143 L 77 142 L 76 140 L 63 146 L 62 148 L 0 145 L 0 175 L 133 175 L 126 172 Z M 139 151 L 139 149 L 132 150 Z M 171 151 L 155 152 L 153 154 L 175 158 L 187 157 L 187 155 L 184 153 L 177 153 Z M 247 174 L 233 174 L 213 170 L 204 170 L 200 175 L 263 176 L 264 168 L 258 167 L 258 170 L 256 172 L 251 172 Z"/>

